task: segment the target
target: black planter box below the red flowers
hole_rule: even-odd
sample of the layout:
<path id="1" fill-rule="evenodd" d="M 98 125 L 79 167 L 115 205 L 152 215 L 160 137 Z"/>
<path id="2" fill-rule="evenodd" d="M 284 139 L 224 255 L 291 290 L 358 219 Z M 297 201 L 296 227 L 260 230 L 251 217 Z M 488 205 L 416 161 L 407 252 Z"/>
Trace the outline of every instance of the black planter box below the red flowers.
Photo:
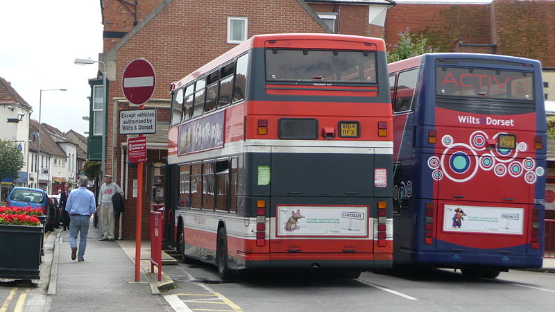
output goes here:
<path id="1" fill-rule="evenodd" d="M 0 225 L 0 278 L 39 279 L 43 227 Z"/>

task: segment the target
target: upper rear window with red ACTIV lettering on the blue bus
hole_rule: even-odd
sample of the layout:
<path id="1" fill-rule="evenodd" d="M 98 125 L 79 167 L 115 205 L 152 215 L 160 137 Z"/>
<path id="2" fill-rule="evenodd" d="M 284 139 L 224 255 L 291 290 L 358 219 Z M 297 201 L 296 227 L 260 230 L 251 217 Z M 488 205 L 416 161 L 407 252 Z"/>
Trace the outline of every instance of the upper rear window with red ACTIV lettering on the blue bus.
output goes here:
<path id="1" fill-rule="evenodd" d="M 533 100 L 533 74 L 524 71 L 436 67 L 436 94 Z"/>

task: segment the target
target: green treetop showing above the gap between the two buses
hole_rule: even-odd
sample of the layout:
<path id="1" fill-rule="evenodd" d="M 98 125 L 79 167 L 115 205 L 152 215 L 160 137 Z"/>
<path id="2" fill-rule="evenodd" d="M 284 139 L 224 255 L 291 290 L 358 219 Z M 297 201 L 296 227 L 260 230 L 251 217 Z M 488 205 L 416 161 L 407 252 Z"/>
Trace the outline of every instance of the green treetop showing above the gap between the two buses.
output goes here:
<path id="1" fill-rule="evenodd" d="M 410 33 L 407 29 L 404 33 L 399 33 L 399 43 L 395 44 L 391 51 L 388 51 L 387 62 L 397 62 L 416 55 L 438 51 L 438 49 L 428 46 L 427 42 L 428 40 L 423 35 Z"/>

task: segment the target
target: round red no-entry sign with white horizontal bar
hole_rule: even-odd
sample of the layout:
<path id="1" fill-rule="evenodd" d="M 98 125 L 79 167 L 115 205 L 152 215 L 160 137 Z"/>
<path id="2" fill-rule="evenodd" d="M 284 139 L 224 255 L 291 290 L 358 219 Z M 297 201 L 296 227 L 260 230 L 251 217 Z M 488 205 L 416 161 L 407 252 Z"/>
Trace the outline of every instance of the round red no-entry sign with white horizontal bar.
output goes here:
<path id="1" fill-rule="evenodd" d="M 123 94 L 130 103 L 141 105 L 151 98 L 156 85 L 156 76 L 151 63 L 137 58 L 127 64 L 121 77 Z"/>

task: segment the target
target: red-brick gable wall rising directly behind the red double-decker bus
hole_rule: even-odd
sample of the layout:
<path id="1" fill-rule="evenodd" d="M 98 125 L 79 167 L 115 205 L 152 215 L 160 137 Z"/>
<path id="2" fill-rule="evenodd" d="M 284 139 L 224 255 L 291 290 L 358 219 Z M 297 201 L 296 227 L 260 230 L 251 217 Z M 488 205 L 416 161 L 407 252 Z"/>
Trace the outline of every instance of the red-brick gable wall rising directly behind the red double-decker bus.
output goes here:
<path id="1" fill-rule="evenodd" d="M 118 1 L 107 1 L 114 6 L 120 6 Z M 238 5 L 240 4 L 240 6 Z M 107 8 L 108 10 L 108 8 Z M 122 15 L 127 13 L 119 11 Z M 106 16 L 108 17 L 108 15 Z M 105 18 L 106 18 L 105 17 Z M 228 17 L 248 18 L 248 37 L 264 33 L 324 33 L 316 21 L 301 8 L 296 0 L 176 0 L 171 2 L 162 12 L 154 17 L 141 31 L 135 34 L 117 51 L 117 79 L 110 82 L 109 98 L 121 98 L 121 75 L 128 62 L 135 58 L 146 58 L 156 72 L 156 87 L 152 98 L 170 100 L 169 87 L 171 82 L 185 77 L 202 64 L 216 58 L 225 51 L 232 49 L 235 44 L 227 43 Z M 108 20 L 105 20 L 107 23 Z M 129 20 L 121 22 L 126 27 Z M 116 22 L 112 25 L 114 31 Z M 108 146 L 113 145 L 112 125 L 113 103 L 110 101 L 108 110 Z M 124 107 L 126 105 L 123 105 Z M 124 107 L 119 107 L 123 109 Z M 159 115 L 164 110 L 158 110 Z M 168 118 L 167 110 L 163 113 Z M 118 114 L 119 116 L 119 114 Z M 108 149 L 106 168 L 110 172 L 113 163 L 119 174 L 119 145 L 125 136 L 118 136 L 114 150 Z M 157 161 L 157 151 L 149 161 Z M 162 156 L 164 157 L 164 156 Z M 129 183 L 136 176 L 136 169 L 130 168 Z M 118 179 L 119 180 L 119 179 Z M 128 192 L 131 190 L 128 189 Z M 146 190 L 148 197 L 150 190 Z M 129 193 L 130 194 L 130 193 Z M 126 211 L 135 209 L 135 200 L 128 197 Z M 143 203 L 143 210 L 148 211 L 148 205 Z M 148 218 L 143 212 L 143 229 L 148 229 Z M 124 215 L 123 238 L 133 238 L 135 235 L 135 212 Z M 133 220 L 131 220 L 133 219 Z M 148 232 L 143 232 L 144 238 Z"/>

